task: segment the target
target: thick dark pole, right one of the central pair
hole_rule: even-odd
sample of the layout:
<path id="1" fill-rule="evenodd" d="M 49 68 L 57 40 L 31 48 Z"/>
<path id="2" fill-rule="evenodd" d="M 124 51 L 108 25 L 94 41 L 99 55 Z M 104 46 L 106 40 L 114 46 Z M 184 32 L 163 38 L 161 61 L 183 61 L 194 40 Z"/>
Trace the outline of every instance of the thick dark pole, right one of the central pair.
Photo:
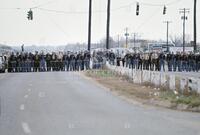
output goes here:
<path id="1" fill-rule="evenodd" d="M 110 2 L 111 0 L 108 0 L 107 5 L 107 30 L 106 30 L 106 49 L 109 49 L 110 47 Z"/>

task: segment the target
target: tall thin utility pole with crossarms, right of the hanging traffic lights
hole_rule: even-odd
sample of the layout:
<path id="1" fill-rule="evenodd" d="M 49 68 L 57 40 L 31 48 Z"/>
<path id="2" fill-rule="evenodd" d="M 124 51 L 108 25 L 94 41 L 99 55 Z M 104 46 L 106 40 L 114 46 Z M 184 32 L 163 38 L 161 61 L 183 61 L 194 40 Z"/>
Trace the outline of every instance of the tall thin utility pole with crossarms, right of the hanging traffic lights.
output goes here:
<path id="1" fill-rule="evenodd" d="M 185 52 L 185 21 L 188 19 L 186 13 L 189 13 L 189 9 L 180 9 L 180 13 L 183 14 L 181 19 L 183 20 L 183 52 Z"/>

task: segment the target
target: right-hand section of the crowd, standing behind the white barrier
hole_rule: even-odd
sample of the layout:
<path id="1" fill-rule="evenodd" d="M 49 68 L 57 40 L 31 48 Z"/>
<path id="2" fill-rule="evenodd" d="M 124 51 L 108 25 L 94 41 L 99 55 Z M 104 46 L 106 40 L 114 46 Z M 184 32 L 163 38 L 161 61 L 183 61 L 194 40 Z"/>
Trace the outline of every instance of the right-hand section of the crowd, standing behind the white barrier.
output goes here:
<path id="1" fill-rule="evenodd" d="M 198 72 L 200 71 L 200 54 L 194 53 L 110 53 L 110 64 L 132 69 Z"/>

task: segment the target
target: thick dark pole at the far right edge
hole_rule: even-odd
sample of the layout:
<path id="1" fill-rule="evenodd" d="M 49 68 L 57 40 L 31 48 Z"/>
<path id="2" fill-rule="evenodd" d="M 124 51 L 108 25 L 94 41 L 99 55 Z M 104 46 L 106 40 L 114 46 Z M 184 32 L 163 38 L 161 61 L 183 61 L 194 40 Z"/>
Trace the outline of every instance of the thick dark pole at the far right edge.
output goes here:
<path id="1" fill-rule="evenodd" d="M 197 0 L 194 0 L 194 52 L 197 51 Z"/>

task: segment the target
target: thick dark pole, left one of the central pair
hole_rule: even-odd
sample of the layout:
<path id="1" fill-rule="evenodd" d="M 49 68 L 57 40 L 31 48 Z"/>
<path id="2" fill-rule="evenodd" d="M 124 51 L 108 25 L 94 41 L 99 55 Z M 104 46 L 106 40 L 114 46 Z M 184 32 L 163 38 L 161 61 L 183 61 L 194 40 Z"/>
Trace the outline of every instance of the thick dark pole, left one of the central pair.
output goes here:
<path id="1" fill-rule="evenodd" d="M 92 29 L 92 0 L 89 0 L 88 51 L 90 51 L 91 49 L 91 29 Z"/>

